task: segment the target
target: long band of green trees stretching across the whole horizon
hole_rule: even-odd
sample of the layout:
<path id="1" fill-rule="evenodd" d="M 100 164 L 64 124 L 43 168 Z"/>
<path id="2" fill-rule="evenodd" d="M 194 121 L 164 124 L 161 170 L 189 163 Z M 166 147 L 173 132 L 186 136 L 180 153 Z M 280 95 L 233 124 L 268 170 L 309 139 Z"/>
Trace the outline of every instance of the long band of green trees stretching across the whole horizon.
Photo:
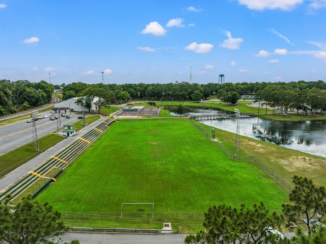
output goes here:
<path id="1" fill-rule="evenodd" d="M 97 96 L 106 104 L 128 102 L 131 99 L 162 100 L 177 102 L 190 100 L 199 102 L 211 97 L 221 99 L 230 105 L 241 97 L 252 96 L 257 101 L 265 101 L 271 107 L 282 109 L 324 111 L 326 109 L 326 83 L 278 82 L 278 83 L 225 83 L 197 84 L 175 82 L 169 84 L 71 84 L 51 85 L 44 80 L 30 83 L 28 80 L 0 80 L 0 116 L 42 105 L 51 99 L 53 88 L 62 88 L 62 98 Z"/>

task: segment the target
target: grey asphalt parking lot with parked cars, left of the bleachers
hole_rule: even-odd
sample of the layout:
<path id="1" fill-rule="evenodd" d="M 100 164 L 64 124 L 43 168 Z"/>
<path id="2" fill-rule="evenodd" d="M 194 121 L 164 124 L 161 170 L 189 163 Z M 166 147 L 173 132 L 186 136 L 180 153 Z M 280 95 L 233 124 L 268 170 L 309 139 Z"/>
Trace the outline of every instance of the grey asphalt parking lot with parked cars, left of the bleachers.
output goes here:
<path id="1" fill-rule="evenodd" d="M 48 115 L 50 111 L 42 113 Z M 40 114 L 41 115 L 41 114 Z M 58 113 L 55 115 L 59 115 Z M 61 129 L 65 123 L 74 123 L 79 115 L 71 114 L 70 119 L 60 117 L 58 120 L 44 118 L 35 121 L 38 138 Z M 61 126 L 60 126 L 61 124 Z M 26 123 L 26 119 L 8 125 L 0 126 L 0 155 L 33 141 L 33 123 Z"/>

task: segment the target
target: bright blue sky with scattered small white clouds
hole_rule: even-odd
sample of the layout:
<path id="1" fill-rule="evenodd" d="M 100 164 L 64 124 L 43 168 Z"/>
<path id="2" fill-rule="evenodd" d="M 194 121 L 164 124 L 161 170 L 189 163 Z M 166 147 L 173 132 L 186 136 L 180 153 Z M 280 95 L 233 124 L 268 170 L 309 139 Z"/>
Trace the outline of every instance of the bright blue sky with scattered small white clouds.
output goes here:
<path id="1" fill-rule="evenodd" d="M 0 0 L 0 37 L 11 81 L 326 81 L 326 0 Z"/>

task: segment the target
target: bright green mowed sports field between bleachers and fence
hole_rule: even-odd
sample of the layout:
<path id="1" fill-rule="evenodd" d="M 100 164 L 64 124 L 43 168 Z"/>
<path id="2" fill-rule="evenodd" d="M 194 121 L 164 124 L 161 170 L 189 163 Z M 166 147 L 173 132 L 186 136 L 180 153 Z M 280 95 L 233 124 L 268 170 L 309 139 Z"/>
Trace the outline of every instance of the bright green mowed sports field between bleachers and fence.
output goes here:
<path id="1" fill-rule="evenodd" d="M 153 202 L 155 211 L 264 202 L 281 210 L 288 192 L 252 162 L 232 161 L 185 119 L 113 123 L 37 198 L 59 211 L 118 212 Z"/>

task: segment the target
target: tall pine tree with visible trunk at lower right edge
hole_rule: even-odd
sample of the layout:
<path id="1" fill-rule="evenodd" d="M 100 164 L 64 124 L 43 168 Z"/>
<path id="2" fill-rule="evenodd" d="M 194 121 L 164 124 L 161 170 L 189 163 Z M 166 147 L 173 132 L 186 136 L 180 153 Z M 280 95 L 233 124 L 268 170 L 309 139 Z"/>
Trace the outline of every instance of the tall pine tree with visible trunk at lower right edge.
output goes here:
<path id="1" fill-rule="evenodd" d="M 324 186 L 317 187 L 306 177 L 293 177 L 294 188 L 289 198 L 290 204 L 283 204 L 284 215 L 289 221 L 304 224 L 311 234 L 311 223 L 317 213 L 326 212 L 326 191 Z"/>

